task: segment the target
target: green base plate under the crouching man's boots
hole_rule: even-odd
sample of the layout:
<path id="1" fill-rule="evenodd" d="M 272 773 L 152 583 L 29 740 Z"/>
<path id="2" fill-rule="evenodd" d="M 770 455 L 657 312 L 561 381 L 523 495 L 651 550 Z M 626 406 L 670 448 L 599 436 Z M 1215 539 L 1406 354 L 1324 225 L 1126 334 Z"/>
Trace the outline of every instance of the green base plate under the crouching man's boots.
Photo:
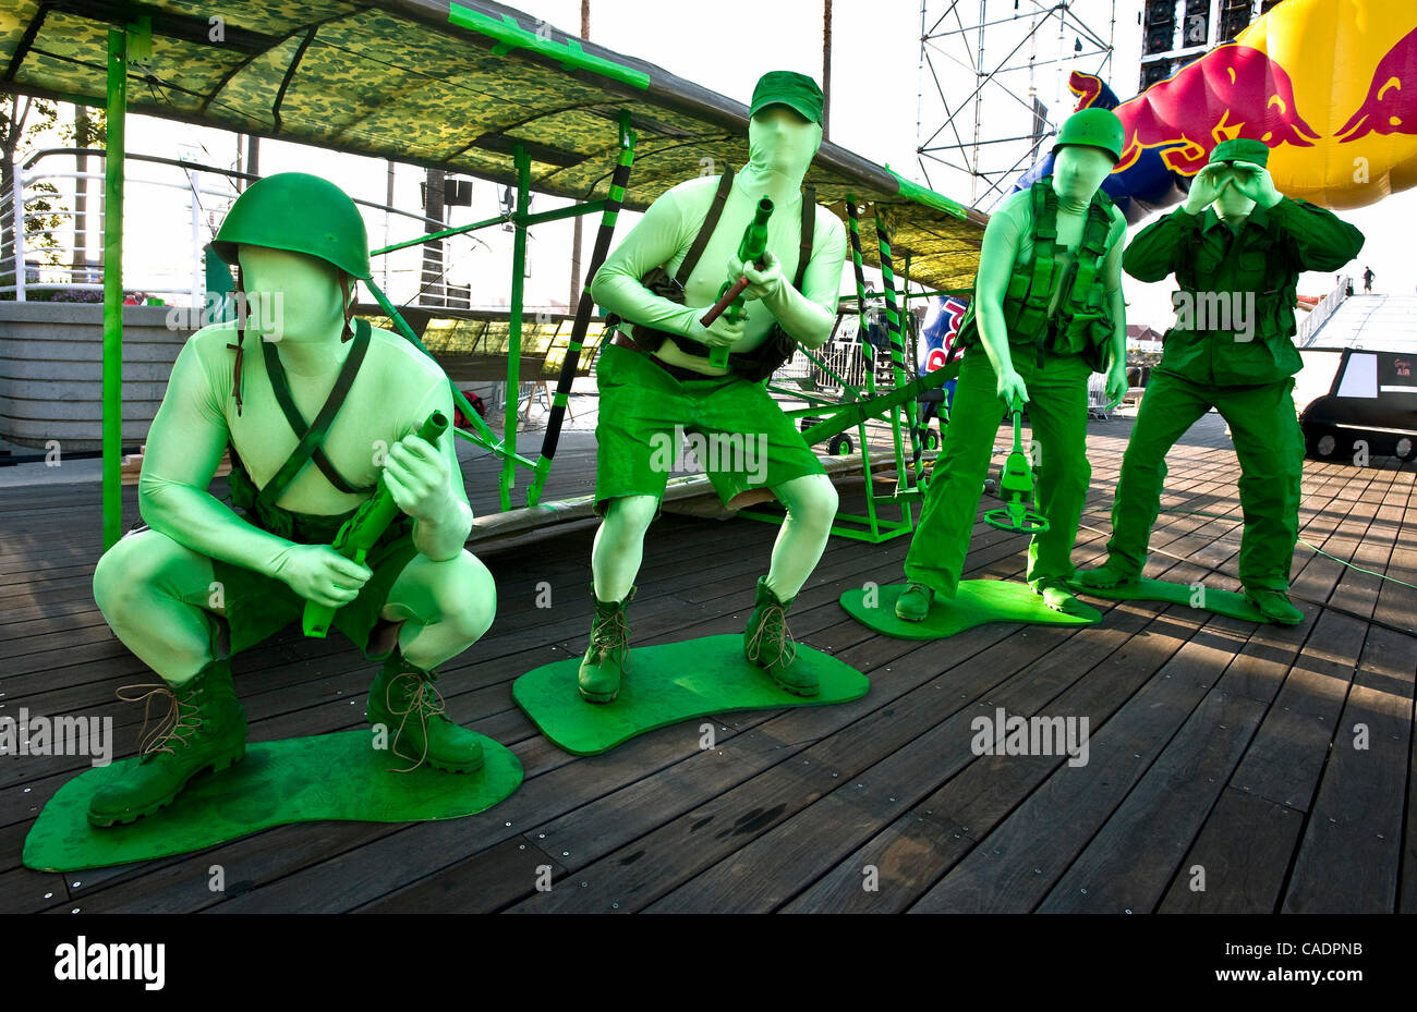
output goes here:
<path id="1" fill-rule="evenodd" d="M 137 757 L 86 770 L 64 784 L 24 841 L 24 863 L 41 872 L 126 865 L 188 853 L 286 822 L 343 820 L 412 822 L 473 815 L 521 784 L 521 763 L 504 746 L 482 739 L 476 773 L 446 773 L 371 746 L 371 730 L 349 730 L 247 746 L 221 773 L 193 778 L 152 815 L 102 829 L 88 824 L 89 798 L 122 778 Z"/>

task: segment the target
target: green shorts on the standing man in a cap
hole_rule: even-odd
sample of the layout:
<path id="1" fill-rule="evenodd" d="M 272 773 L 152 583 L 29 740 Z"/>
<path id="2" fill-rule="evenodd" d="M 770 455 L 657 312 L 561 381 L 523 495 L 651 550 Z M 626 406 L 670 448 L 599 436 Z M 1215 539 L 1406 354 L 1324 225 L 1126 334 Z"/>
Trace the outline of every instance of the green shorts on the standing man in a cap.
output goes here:
<path id="1" fill-rule="evenodd" d="M 648 357 L 609 343 L 601 348 L 595 379 L 598 515 L 623 495 L 663 498 L 676 468 L 706 471 L 728 507 L 750 490 L 826 474 L 762 384 L 738 376 L 680 382 Z M 684 454 L 686 442 L 693 457 Z"/>

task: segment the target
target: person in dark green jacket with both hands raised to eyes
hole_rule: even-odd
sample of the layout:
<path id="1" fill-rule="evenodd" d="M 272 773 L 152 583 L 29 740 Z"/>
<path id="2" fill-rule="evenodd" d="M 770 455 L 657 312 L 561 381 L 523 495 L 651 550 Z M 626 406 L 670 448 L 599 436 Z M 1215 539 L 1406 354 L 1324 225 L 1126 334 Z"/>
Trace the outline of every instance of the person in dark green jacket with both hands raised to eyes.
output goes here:
<path id="1" fill-rule="evenodd" d="M 1122 457 L 1107 563 L 1083 572 L 1080 582 L 1117 587 L 1141 576 L 1166 452 L 1216 408 L 1240 457 L 1244 593 L 1270 621 L 1298 624 L 1304 614 L 1287 593 L 1304 466 L 1292 396 L 1302 365 L 1292 341 L 1295 286 L 1299 272 L 1336 270 L 1357 256 L 1363 234 L 1325 208 L 1280 194 L 1268 156 L 1258 140 L 1217 144 L 1186 204 L 1127 248 L 1122 266 L 1138 280 L 1176 275 L 1178 321 L 1163 337 Z"/>

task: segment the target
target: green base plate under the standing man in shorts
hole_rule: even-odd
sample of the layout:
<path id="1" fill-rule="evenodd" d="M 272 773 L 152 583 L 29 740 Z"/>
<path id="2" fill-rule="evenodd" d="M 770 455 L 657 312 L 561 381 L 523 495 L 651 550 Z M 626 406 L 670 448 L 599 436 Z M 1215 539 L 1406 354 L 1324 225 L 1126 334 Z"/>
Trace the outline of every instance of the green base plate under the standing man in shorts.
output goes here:
<path id="1" fill-rule="evenodd" d="M 730 711 L 823 706 L 860 699 L 871 684 L 856 668 L 805 644 L 794 667 L 816 672 L 820 691 L 798 696 L 743 657 L 743 636 L 636 647 L 619 696 L 585 702 L 575 688 L 581 658 L 543 664 L 512 684 L 512 698 L 557 747 L 598 756 L 656 728 Z"/>

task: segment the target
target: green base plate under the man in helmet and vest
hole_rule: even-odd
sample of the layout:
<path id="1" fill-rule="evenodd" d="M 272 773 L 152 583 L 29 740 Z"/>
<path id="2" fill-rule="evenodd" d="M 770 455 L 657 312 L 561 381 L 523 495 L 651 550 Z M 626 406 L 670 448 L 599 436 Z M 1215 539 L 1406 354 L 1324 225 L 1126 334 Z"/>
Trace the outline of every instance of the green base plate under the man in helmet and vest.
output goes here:
<path id="1" fill-rule="evenodd" d="M 1101 613 L 1087 607 L 1097 617 L 1054 611 L 1033 593 L 1027 583 L 1013 580 L 959 580 L 952 599 L 935 594 L 930 614 L 922 621 L 896 617 L 896 600 L 905 593 L 907 583 L 876 587 L 874 606 L 867 604 L 866 590 L 847 590 L 842 607 L 856 621 L 897 640 L 939 640 L 962 633 L 986 621 L 1026 621 L 1039 626 L 1091 626 Z"/>

